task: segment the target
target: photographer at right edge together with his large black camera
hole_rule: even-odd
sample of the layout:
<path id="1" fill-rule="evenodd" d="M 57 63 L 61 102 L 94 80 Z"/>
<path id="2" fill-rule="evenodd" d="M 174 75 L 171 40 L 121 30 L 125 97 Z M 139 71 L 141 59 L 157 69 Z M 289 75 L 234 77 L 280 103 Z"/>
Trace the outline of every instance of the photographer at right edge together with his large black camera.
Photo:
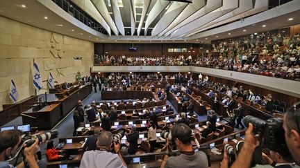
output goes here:
<path id="1" fill-rule="evenodd" d="M 260 144 L 272 152 L 278 153 L 279 164 L 256 165 L 255 167 L 296 167 L 300 168 L 300 102 L 294 104 L 280 118 L 270 118 L 267 121 L 247 116 L 244 124 L 249 125 L 242 150 L 231 167 L 250 167 L 254 149 Z M 259 136 L 256 136 L 259 135 Z M 294 160 L 291 160 L 288 151 Z M 295 164 L 292 162 L 294 161 Z M 269 162 L 271 163 L 271 162 Z M 228 154 L 224 152 L 221 167 L 228 167 Z"/>

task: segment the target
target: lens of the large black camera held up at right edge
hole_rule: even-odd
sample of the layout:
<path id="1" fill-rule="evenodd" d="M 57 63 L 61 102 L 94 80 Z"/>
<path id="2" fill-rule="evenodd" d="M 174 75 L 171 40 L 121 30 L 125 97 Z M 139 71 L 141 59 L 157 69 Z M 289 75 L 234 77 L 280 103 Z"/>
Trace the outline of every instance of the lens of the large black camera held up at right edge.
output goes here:
<path id="1" fill-rule="evenodd" d="M 251 115 L 247 115 L 244 118 L 244 125 L 246 127 L 249 126 L 249 123 L 253 124 L 253 133 L 263 133 L 267 123 L 265 120 L 261 120 L 260 118 L 253 117 Z"/>

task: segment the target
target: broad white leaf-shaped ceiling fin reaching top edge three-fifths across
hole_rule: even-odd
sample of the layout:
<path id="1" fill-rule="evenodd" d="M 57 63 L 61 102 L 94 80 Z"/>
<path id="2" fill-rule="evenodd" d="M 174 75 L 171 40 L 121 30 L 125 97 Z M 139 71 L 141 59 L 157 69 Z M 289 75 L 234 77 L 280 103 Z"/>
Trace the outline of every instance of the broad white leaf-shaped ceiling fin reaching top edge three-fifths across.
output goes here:
<path id="1" fill-rule="evenodd" d="M 167 9 L 167 12 L 165 12 L 165 15 L 163 15 L 162 18 L 158 21 L 156 26 L 154 26 L 151 35 L 152 37 L 158 35 L 158 33 L 162 32 L 167 28 L 176 17 L 188 6 L 189 3 L 183 3 L 183 2 L 174 2 L 172 3 L 169 8 Z"/>

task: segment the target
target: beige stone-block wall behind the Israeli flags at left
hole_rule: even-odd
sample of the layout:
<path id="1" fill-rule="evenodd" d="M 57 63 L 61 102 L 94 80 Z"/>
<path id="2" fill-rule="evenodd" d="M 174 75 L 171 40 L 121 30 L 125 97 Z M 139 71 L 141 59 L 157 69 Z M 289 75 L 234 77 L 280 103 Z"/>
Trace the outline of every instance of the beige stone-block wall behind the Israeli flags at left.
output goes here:
<path id="1" fill-rule="evenodd" d="M 94 44 L 90 41 L 0 17 L 0 110 L 2 104 L 12 104 L 10 80 L 14 80 L 17 86 L 18 101 L 35 95 L 33 60 L 38 64 L 42 77 L 40 94 L 49 89 L 49 72 L 55 78 L 55 84 L 75 82 L 78 71 L 81 75 L 90 74 L 93 54 Z"/>

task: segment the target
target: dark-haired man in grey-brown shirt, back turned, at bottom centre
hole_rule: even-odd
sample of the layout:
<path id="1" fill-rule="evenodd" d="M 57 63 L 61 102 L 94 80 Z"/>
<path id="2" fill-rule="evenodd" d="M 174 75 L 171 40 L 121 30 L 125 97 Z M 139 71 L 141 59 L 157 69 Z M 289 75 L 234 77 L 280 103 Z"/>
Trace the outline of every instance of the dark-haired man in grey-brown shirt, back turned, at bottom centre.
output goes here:
<path id="1" fill-rule="evenodd" d="M 194 152 L 192 148 L 192 130 L 185 124 L 176 124 L 172 129 L 172 140 L 175 141 L 177 149 L 181 151 L 180 156 L 163 157 L 160 167 L 208 167 L 208 158 L 203 151 Z M 169 145 L 169 140 L 167 144 Z M 169 149 L 167 148 L 167 153 Z"/>

